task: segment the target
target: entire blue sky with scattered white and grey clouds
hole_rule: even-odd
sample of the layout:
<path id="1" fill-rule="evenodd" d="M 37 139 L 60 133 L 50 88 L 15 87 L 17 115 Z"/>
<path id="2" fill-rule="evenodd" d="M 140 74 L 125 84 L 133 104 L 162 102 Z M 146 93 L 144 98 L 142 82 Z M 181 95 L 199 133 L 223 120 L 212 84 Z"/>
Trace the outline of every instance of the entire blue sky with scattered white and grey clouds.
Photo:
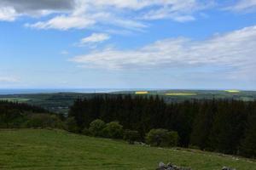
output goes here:
<path id="1" fill-rule="evenodd" d="M 256 90 L 256 0 L 0 0 L 0 88 Z"/>

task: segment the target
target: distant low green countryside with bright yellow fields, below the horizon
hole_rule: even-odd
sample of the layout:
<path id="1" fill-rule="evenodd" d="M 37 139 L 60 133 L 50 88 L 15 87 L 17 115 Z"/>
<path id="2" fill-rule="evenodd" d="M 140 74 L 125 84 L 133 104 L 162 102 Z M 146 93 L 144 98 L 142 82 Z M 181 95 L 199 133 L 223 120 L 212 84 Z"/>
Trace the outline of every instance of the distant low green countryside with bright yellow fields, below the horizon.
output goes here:
<path id="1" fill-rule="evenodd" d="M 159 95 L 166 102 L 181 102 L 190 99 L 241 99 L 253 101 L 256 99 L 256 91 L 237 91 L 237 90 L 137 90 L 137 91 L 118 91 L 108 94 L 132 94 L 132 95 Z M 38 105 L 49 111 L 67 114 L 68 107 L 73 105 L 75 99 L 91 98 L 100 93 L 52 93 L 52 94 L 5 94 L 0 95 L 2 100 L 24 102 L 30 105 Z"/>

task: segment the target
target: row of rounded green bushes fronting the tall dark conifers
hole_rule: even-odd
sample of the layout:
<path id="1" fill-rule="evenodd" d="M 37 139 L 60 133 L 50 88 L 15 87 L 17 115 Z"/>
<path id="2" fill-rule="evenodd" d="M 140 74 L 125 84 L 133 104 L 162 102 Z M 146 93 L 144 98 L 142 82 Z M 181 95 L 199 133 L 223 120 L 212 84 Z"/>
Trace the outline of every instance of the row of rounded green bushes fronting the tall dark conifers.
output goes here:
<path id="1" fill-rule="evenodd" d="M 140 143 L 141 139 L 136 130 L 124 129 L 119 122 L 104 122 L 96 119 L 90 122 L 90 126 L 84 127 L 82 132 L 74 120 L 74 117 L 68 117 L 66 120 L 66 130 L 72 133 L 82 133 L 86 136 L 101 137 L 108 139 L 124 139 L 129 144 Z M 152 146 L 174 147 L 177 146 L 179 136 L 177 132 L 158 128 L 151 129 L 145 136 L 145 142 Z"/>

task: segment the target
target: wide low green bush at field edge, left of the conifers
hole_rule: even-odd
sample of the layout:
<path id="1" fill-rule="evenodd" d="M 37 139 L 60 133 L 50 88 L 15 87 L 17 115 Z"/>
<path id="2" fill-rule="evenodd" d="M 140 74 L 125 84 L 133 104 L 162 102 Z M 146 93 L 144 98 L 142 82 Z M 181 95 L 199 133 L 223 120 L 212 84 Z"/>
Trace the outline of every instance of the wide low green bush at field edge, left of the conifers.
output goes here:
<path id="1" fill-rule="evenodd" d="M 28 121 L 26 122 L 26 127 L 52 127 L 52 128 L 61 128 L 62 122 L 55 115 L 49 114 L 33 114 L 28 117 Z"/>

